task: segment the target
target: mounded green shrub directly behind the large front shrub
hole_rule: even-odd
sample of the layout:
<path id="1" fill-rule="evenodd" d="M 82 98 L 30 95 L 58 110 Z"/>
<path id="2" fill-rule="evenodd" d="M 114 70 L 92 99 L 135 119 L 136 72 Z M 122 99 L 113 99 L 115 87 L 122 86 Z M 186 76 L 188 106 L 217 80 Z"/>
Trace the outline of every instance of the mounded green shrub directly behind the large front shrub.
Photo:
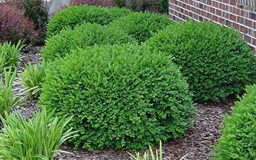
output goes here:
<path id="1" fill-rule="evenodd" d="M 77 26 L 74 30 L 70 28 L 62 30 L 60 34 L 54 35 L 46 40 L 46 45 L 42 52 L 42 57 L 46 61 L 57 57 L 65 57 L 70 54 L 70 50 L 86 48 L 95 44 L 122 44 L 135 42 L 132 36 L 123 30 L 99 24 L 85 23 Z"/>

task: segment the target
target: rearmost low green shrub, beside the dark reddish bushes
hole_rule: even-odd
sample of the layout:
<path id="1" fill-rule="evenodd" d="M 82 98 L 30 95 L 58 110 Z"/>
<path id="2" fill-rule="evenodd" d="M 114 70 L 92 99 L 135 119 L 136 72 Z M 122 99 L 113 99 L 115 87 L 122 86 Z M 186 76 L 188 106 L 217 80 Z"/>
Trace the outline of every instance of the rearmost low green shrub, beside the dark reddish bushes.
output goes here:
<path id="1" fill-rule="evenodd" d="M 108 25 L 113 20 L 131 12 L 128 9 L 116 7 L 109 9 L 88 5 L 70 6 L 52 17 L 47 26 L 47 36 L 58 34 L 66 27 L 73 29 L 76 25 L 81 25 L 84 22 Z"/>

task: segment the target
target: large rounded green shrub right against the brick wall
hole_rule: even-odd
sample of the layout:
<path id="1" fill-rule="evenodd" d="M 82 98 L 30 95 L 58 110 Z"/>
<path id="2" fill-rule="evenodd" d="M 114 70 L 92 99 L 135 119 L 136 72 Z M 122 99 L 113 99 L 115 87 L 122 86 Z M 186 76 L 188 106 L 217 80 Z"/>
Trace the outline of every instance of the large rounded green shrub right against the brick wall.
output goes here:
<path id="1" fill-rule="evenodd" d="M 214 23 L 172 25 L 145 43 L 174 56 L 195 101 L 219 101 L 255 82 L 255 58 L 233 29 Z"/>

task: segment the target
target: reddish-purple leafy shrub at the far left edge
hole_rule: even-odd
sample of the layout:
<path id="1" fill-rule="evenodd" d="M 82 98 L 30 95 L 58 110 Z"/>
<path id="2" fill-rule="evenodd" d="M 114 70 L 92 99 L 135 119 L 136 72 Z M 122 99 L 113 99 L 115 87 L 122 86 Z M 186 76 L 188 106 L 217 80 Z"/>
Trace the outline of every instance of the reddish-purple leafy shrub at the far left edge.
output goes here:
<path id="1" fill-rule="evenodd" d="M 34 23 L 16 5 L 0 4 L 0 42 L 29 43 L 36 39 Z"/>

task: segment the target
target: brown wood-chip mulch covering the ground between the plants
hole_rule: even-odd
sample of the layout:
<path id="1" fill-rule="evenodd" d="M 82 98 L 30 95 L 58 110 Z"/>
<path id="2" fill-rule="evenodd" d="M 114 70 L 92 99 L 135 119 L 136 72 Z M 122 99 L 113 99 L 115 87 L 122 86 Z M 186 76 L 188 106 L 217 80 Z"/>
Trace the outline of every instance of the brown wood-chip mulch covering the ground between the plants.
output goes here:
<path id="1" fill-rule="evenodd" d="M 39 60 L 42 60 L 40 56 L 40 49 L 42 47 L 33 47 L 29 52 L 26 52 L 26 58 L 24 58 L 23 64 L 20 66 L 20 70 L 24 69 L 24 63 L 28 64 L 28 61 L 31 63 L 36 63 Z M 22 86 L 15 86 L 18 89 L 21 89 Z M 221 103 L 204 103 L 196 105 L 197 111 L 195 111 L 196 118 L 193 120 L 192 124 L 194 128 L 191 128 L 187 131 L 183 139 L 176 141 L 168 141 L 163 143 L 163 157 L 164 159 L 180 159 L 182 156 L 185 156 L 184 159 L 211 159 L 210 154 L 213 153 L 211 145 L 217 144 L 217 139 L 220 137 L 219 126 L 223 118 L 222 114 L 231 112 L 230 107 L 234 105 L 235 99 L 232 98 L 227 102 Z M 26 105 L 19 107 L 18 109 L 22 112 L 26 118 L 31 118 L 31 112 L 40 110 L 36 107 L 37 101 L 30 101 L 24 99 L 22 103 Z M 0 124 L 1 128 L 1 124 Z M 61 156 L 55 156 L 56 160 L 75 160 L 75 159 L 131 159 L 127 154 L 127 151 L 132 153 L 131 150 L 113 150 L 113 149 L 104 149 L 104 150 L 94 150 L 87 151 L 84 149 L 73 150 L 73 147 L 70 145 L 61 146 L 60 149 L 71 152 L 73 154 L 61 154 Z M 159 146 L 155 146 L 153 149 L 159 149 Z M 145 150 L 141 150 L 143 153 Z"/>

